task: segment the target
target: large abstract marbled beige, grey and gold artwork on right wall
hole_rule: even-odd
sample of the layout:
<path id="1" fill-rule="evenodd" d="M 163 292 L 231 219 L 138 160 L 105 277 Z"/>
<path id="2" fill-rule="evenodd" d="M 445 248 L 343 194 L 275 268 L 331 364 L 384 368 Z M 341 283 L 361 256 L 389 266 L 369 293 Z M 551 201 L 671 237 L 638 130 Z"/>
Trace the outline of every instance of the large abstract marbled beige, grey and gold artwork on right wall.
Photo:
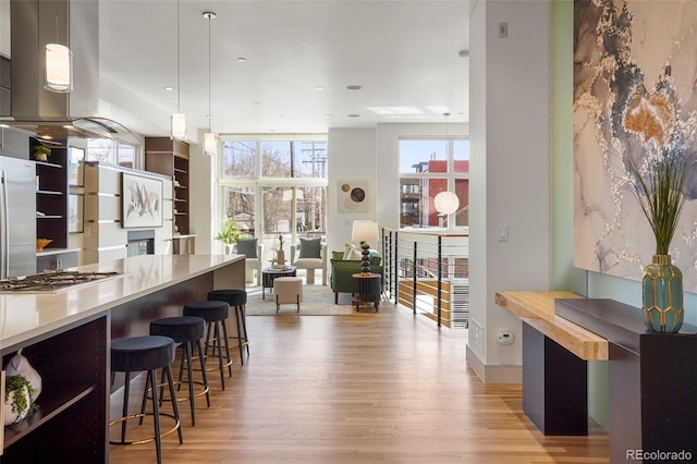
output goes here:
<path id="1" fill-rule="evenodd" d="M 668 146 L 697 159 L 697 2 L 574 2 L 574 265 L 640 280 L 656 242 L 631 158 Z M 697 176 L 671 244 L 697 292 Z"/>

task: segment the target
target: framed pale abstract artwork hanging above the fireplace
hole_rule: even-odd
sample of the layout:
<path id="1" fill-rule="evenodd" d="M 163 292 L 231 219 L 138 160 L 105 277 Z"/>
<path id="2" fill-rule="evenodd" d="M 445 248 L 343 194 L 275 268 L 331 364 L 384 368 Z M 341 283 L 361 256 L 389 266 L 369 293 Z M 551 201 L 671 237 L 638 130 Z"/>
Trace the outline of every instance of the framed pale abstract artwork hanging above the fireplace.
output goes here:
<path id="1" fill-rule="evenodd" d="M 142 175 L 122 173 L 121 227 L 162 227 L 162 181 Z"/>

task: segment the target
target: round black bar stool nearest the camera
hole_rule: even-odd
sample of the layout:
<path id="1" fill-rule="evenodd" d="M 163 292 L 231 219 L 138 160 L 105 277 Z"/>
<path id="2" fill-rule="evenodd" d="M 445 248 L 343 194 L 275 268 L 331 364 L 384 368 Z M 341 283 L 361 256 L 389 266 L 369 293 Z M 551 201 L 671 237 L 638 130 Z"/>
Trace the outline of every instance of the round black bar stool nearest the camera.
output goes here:
<path id="1" fill-rule="evenodd" d="M 172 381 L 171 364 L 174 361 L 174 340 L 169 337 L 150 335 L 150 337 L 132 337 L 129 339 L 118 340 L 111 343 L 111 380 L 113 383 L 114 373 L 125 373 L 125 384 L 123 393 L 123 414 L 121 417 L 111 420 L 109 426 L 121 423 L 121 441 L 109 440 L 112 444 L 142 444 L 155 441 L 157 452 L 157 462 L 162 462 L 161 438 L 172 434 L 174 430 L 179 434 L 179 442 L 182 444 L 182 427 L 179 416 L 179 407 L 176 406 L 176 392 L 174 391 L 174 382 Z M 156 370 L 161 368 L 167 377 L 172 400 L 172 410 L 174 414 L 161 413 L 160 402 L 157 398 Z M 129 415 L 129 389 L 131 383 L 131 373 L 146 370 L 147 380 L 145 382 L 145 391 L 148 388 L 152 390 L 152 413 L 145 413 L 146 399 L 143 400 L 139 414 Z M 126 423 L 130 419 L 143 418 L 151 415 L 155 423 L 155 436 L 144 440 L 126 441 Z M 160 416 L 168 416 L 174 419 L 174 426 L 164 431 L 160 431 Z"/>

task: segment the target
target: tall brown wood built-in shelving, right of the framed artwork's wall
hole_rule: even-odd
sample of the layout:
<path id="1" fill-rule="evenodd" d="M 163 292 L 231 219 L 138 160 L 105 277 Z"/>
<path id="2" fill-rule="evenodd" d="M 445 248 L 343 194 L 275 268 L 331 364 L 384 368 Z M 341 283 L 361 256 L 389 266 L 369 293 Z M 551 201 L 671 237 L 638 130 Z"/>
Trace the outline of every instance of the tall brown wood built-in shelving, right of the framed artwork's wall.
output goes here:
<path id="1" fill-rule="evenodd" d="M 145 138 L 145 169 L 170 175 L 173 184 L 173 233 L 189 233 L 188 144 L 169 137 Z"/>

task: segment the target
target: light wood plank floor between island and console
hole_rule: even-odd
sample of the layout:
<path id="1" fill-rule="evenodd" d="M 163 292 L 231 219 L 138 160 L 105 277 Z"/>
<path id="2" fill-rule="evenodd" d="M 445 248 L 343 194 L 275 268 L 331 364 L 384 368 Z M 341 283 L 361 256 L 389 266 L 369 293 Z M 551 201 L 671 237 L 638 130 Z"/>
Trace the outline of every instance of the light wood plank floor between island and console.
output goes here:
<path id="1" fill-rule="evenodd" d="M 463 332 L 402 308 L 252 316 L 247 329 L 249 358 L 235 358 L 224 391 L 210 374 L 211 407 L 198 400 L 195 427 L 180 403 L 184 444 L 166 437 L 163 463 L 609 462 L 597 425 L 589 437 L 542 436 L 519 386 L 484 384 L 467 368 Z M 110 462 L 155 462 L 155 445 L 112 445 Z"/>

